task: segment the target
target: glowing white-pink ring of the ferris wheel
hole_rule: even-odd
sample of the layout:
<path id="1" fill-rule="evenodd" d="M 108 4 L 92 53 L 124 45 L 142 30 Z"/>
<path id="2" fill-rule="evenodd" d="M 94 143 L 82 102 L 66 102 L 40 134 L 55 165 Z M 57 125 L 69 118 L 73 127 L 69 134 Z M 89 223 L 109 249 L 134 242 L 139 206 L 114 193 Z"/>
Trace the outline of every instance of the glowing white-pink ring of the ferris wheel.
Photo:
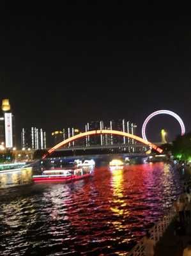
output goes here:
<path id="1" fill-rule="evenodd" d="M 149 120 L 151 120 L 151 118 L 153 118 L 154 116 L 161 115 L 161 114 L 170 115 L 170 116 L 174 117 L 180 124 L 181 136 L 183 136 L 185 134 L 185 125 L 183 123 L 183 120 L 181 120 L 180 116 L 178 116 L 176 113 L 174 113 L 172 111 L 169 111 L 169 110 L 158 110 L 158 111 L 153 112 L 151 115 L 149 115 L 146 118 L 146 120 L 144 121 L 144 124 L 142 125 L 142 138 L 143 138 L 143 140 L 148 141 L 147 138 L 146 138 L 146 125 L 148 124 Z"/>

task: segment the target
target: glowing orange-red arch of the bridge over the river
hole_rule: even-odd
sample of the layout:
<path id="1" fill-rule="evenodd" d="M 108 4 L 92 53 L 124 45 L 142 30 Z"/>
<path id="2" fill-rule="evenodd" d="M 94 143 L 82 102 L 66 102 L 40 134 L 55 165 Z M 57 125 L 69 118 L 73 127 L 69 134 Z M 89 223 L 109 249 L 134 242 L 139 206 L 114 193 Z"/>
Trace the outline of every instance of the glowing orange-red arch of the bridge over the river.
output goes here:
<path id="1" fill-rule="evenodd" d="M 156 150 L 159 153 L 162 153 L 162 149 L 157 147 L 157 145 L 155 145 L 155 144 L 153 144 L 149 141 L 143 140 L 142 138 L 140 138 L 139 136 L 135 136 L 134 134 L 130 134 L 130 133 L 127 133 L 127 132 L 121 132 L 121 131 L 114 131 L 114 130 L 96 130 L 96 131 L 88 131 L 88 132 L 83 132 L 83 133 L 77 134 L 73 137 L 70 137 L 70 138 L 62 141 L 61 143 L 58 143 L 53 148 L 50 148 L 50 150 L 48 151 L 48 154 L 45 154 L 42 158 L 44 159 L 45 157 L 52 154 L 57 148 L 61 148 L 61 147 L 67 145 L 68 143 L 70 143 L 72 141 L 78 140 L 80 138 L 84 138 L 86 136 L 101 135 L 101 134 L 112 134 L 112 135 L 118 135 L 118 136 L 123 136 L 123 137 L 126 137 L 126 138 L 130 138 L 130 139 L 139 141 L 139 142 L 143 143 L 146 146 L 149 146 L 149 147 L 153 148 L 154 150 Z"/>

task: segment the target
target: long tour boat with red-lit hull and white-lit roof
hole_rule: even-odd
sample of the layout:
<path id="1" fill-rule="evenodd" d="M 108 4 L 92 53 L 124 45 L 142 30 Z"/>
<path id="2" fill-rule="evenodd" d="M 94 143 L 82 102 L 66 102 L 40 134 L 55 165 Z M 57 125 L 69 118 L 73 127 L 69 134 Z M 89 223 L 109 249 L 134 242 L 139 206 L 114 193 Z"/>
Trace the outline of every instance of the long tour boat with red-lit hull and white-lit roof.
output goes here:
<path id="1" fill-rule="evenodd" d="M 54 169 L 45 170 L 42 175 L 33 175 L 34 182 L 69 182 L 91 176 L 92 170 L 79 169 Z"/>

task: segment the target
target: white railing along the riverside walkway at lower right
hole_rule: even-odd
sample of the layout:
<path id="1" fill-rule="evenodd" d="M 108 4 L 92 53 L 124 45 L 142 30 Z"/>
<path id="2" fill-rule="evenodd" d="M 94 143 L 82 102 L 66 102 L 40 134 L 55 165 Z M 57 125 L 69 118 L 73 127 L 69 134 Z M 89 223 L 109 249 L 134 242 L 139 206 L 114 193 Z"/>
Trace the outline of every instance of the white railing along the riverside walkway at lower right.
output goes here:
<path id="1" fill-rule="evenodd" d="M 155 244 L 158 243 L 160 238 L 164 235 L 165 230 L 171 224 L 172 220 L 176 216 L 176 209 L 174 205 L 172 205 L 171 210 L 164 215 L 162 220 L 158 221 L 157 224 L 154 225 L 149 230 L 149 234 L 151 234 L 151 239 L 155 241 Z M 128 256 L 144 256 L 144 241 L 143 238 L 141 241 L 132 248 L 132 250 L 128 253 Z"/>

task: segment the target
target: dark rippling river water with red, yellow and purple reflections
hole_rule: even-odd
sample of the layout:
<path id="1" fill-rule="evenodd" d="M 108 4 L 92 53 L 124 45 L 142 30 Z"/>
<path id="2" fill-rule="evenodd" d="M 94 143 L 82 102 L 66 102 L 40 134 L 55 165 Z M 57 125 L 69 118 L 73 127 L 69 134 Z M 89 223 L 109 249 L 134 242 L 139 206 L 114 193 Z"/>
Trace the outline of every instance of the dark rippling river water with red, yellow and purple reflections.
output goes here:
<path id="1" fill-rule="evenodd" d="M 128 255 L 181 191 L 169 164 L 0 189 L 0 255 Z"/>

